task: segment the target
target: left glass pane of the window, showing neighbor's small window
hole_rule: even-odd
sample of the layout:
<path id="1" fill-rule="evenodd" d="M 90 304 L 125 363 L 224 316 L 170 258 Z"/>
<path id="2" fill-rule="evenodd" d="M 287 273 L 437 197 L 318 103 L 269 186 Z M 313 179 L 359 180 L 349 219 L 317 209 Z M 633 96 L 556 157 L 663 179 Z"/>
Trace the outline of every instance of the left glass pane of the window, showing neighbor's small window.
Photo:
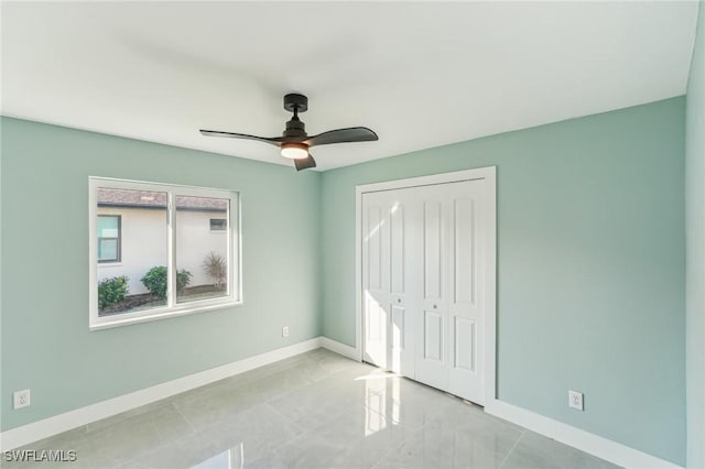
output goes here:
<path id="1" fill-rule="evenodd" d="M 98 316 L 166 305 L 166 193 L 99 187 L 97 195 Z"/>

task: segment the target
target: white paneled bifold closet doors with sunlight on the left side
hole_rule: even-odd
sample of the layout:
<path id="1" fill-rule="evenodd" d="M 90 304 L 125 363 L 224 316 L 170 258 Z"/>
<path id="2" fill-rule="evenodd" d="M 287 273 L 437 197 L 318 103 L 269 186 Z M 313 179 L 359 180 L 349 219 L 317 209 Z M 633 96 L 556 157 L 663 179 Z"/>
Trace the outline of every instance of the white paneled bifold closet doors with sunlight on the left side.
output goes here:
<path id="1" fill-rule="evenodd" d="M 478 404 L 484 184 L 362 195 L 365 360 Z"/>

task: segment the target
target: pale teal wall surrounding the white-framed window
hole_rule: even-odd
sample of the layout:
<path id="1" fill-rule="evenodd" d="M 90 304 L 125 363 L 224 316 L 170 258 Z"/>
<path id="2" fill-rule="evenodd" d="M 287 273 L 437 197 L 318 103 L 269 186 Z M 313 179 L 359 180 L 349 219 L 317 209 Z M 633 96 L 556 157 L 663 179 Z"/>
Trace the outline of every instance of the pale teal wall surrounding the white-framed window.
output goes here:
<path id="1" fill-rule="evenodd" d="M 3 430 L 321 334 L 319 173 L 1 123 Z M 239 190 L 245 304 L 89 331 L 89 175 Z"/>

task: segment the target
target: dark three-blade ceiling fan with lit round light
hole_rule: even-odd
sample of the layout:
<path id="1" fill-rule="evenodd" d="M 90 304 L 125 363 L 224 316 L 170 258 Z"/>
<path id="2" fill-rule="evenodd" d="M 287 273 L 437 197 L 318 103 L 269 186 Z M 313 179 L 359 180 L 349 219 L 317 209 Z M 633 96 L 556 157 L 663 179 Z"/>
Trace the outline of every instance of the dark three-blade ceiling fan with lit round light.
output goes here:
<path id="1" fill-rule="evenodd" d="M 329 130 L 317 135 L 308 137 L 306 127 L 299 120 L 299 112 L 308 109 L 308 98 L 304 95 L 289 94 L 284 96 L 284 109 L 293 112 L 294 116 L 282 133 L 282 137 L 257 137 L 247 133 L 219 132 L 216 130 L 200 130 L 206 137 L 227 137 L 231 139 L 257 140 L 279 146 L 282 156 L 294 160 L 296 171 L 316 167 L 308 149 L 316 145 L 328 145 L 330 143 L 346 142 L 370 142 L 379 140 L 377 133 L 366 127 L 350 127 L 347 129 Z"/>

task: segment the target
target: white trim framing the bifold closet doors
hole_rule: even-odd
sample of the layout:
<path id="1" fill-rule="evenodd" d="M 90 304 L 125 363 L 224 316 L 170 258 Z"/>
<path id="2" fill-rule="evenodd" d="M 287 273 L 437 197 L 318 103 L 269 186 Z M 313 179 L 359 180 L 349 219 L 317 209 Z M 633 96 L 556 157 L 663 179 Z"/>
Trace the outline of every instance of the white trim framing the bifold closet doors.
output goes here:
<path id="1" fill-rule="evenodd" d="M 430 186 L 463 181 L 485 179 L 486 201 L 488 209 L 489 251 L 487 279 L 487 317 L 485 318 L 485 401 L 497 399 L 497 166 L 479 167 L 475 170 L 441 173 L 406 179 L 387 181 L 382 183 L 361 184 L 355 187 L 355 356 L 362 361 L 362 194 L 381 190 L 393 190 L 409 187 Z"/>

